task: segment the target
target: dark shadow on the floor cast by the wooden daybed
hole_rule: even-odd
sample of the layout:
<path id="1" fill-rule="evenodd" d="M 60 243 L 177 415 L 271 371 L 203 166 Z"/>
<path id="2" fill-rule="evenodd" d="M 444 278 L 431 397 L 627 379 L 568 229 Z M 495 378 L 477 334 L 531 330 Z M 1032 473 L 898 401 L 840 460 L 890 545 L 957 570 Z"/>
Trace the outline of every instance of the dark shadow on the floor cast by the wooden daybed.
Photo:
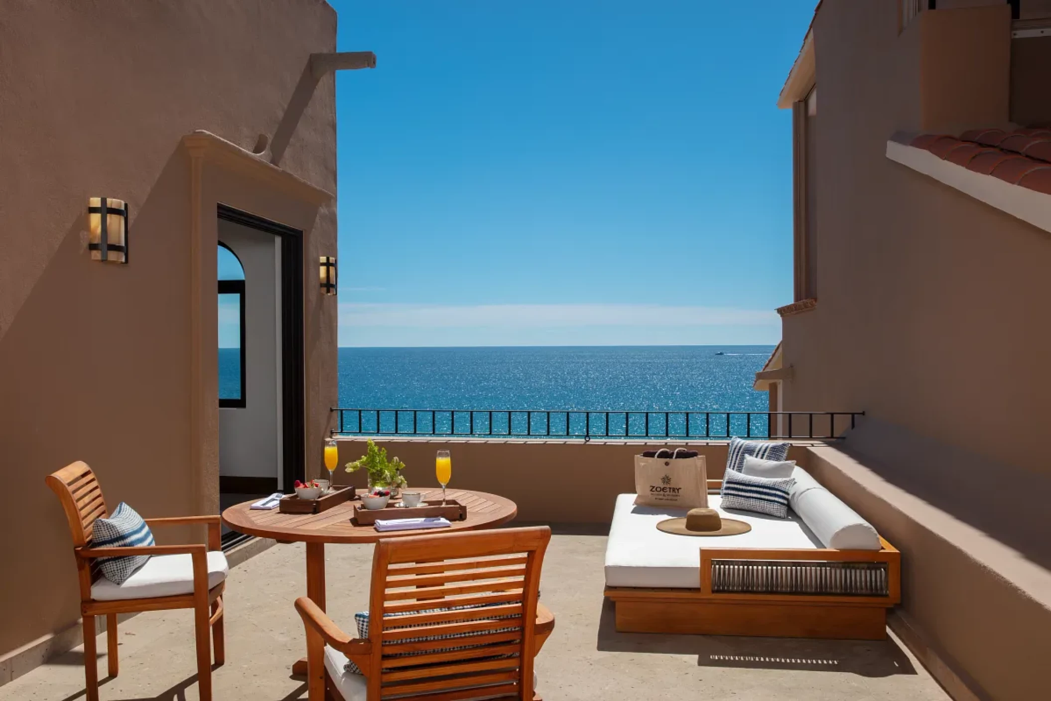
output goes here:
<path id="1" fill-rule="evenodd" d="M 697 655 L 702 667 L 842 672 L 861 677 L 914 675 L 915 667 L 891 638 L 813 640 L 737 636 L 618 633 L 612 601 L 603 601 L 597 650 L 605 653 Z"/>

